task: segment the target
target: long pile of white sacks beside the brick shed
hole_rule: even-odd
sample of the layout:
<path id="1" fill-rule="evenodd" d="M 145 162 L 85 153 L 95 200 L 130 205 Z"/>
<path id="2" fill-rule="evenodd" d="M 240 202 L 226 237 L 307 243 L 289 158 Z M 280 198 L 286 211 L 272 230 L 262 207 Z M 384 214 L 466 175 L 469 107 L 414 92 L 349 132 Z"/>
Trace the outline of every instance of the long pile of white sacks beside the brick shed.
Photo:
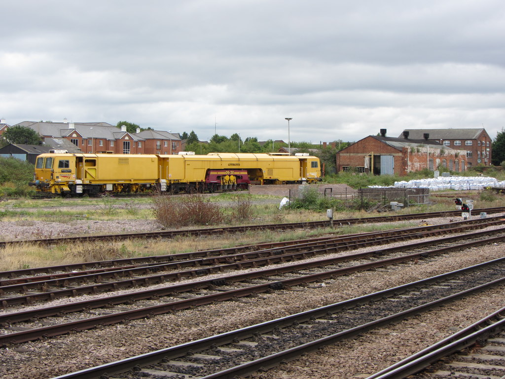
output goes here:
<path id="1" fill-rule="evenodd" d="M 432 179 L 395 181 L 395 188 L 430 188 L 430 191 L 444 189 L 483 189 L 486 187 L 505 188 L 505 180 L 498 181 L 487 176 L 439 176 Z"/>

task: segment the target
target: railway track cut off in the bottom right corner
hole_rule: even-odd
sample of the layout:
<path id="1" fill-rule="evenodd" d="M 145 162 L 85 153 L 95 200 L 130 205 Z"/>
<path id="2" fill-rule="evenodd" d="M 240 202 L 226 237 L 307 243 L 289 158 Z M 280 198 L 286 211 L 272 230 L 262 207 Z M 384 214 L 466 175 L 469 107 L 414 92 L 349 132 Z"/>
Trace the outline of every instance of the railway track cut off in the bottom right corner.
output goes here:
<path id="1" fill-rule="evenodd" d="M 505 308 L 368 376 L 367 379 L 407 377 L 500 379 L 505 376 L 503 354 L 505 354 Z"/>

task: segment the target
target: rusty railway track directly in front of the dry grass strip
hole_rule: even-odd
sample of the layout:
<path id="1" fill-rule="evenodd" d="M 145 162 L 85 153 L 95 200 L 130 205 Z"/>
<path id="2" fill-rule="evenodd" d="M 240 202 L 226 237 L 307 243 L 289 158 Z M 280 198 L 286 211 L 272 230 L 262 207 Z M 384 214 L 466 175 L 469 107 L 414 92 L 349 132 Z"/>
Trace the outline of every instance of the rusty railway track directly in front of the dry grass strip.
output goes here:
<path id="1" fill-rule="evenodd" d="M 334 251 L 342 249 L 350 250 L 363 246 L 389 243 L 394 238 L 422 238 L 480 229 L 503 223 L 505 223 L 505 219 L 497 216 L 485 219 L 457 221 L 448 224 L 390 229 L 341 236 L 323 236 L 320 238 L 263 243 L 226 249 L 200 250 L 189 253 L 3 271 L 0 272 L 0 296 L 8 292 L 27 292 L 34 289 L 43 289 L 44 292 L 47 292 L 47 289 L 52 286 L 67 286 L 77 282 L 102 281 L 109 278 L 145 275 L 171 268 L 210 266 L 280 254 L 285 255 L 289 252 L 311 251 L 314 248 L 319 249 L 323 245 L 325 248 L 333 247 Z"/>

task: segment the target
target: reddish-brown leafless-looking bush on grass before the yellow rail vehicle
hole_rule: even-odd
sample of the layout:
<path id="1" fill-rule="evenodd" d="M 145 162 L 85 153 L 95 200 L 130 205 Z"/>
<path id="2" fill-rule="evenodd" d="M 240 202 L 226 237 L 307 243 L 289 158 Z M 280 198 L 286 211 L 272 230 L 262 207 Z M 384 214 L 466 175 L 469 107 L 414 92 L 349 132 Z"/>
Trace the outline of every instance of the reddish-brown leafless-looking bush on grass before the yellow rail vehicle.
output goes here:
<path id="1" fill-rule="evenodd" d="M 153 197 L 155 218 L 164 226 L 189 226 L 216 224 L 223 220 L 223 211 L 201 195 L 184 197 L 166 196 L 159 193 Z"/>

